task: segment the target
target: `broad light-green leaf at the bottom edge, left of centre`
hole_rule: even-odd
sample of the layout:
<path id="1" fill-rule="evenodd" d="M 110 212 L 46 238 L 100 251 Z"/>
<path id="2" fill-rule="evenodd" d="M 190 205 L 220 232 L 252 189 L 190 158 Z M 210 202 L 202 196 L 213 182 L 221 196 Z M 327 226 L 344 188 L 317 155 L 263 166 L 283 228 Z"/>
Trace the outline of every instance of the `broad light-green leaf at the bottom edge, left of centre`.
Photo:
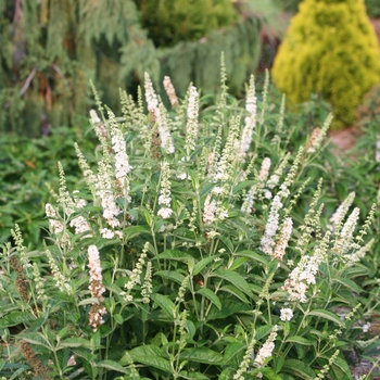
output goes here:
<path id="1" fill-rule="evenodd" d="M 129 355 L 134 362 L 142 363 L 145 366 L 151 366 L 172 373 L 170 362 L 164 358 L 166 356 L 165 351 L 156 345 L 140 345 L 130 350 Z"/>

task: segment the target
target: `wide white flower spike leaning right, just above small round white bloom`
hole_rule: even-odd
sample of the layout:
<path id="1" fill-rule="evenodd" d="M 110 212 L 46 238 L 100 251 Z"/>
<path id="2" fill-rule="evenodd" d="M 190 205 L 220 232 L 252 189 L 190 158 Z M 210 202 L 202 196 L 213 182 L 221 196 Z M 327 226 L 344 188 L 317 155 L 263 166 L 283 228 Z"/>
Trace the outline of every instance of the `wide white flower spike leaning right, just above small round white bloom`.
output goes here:
<path id="1" fill-rule="evenodd" d="M 319 246 L 315 249 L 313 256 L 302 256 L 297 266 L 290 273 L 284 281 L 283 289 L 290 294 L 291 301 L 307 301 L 306 292 L 312 283 L 316 283 L 315 275 L 319 265 L 326 261 L 330 232 L 327 231 Z"/>

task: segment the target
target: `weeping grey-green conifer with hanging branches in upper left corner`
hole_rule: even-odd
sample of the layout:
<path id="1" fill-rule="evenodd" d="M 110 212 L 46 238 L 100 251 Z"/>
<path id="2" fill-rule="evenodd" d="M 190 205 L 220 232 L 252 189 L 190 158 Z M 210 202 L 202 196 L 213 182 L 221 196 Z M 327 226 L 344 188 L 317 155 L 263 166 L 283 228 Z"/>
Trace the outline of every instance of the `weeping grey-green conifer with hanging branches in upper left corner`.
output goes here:
<path id="1" fill-rule="evenodd" d="M 90 79 L 111 106 L 147 71 L 153 42 L 132 0 L 0 0 L 0 129 L 39 135 L 69 125 L 91 101 Z"/>

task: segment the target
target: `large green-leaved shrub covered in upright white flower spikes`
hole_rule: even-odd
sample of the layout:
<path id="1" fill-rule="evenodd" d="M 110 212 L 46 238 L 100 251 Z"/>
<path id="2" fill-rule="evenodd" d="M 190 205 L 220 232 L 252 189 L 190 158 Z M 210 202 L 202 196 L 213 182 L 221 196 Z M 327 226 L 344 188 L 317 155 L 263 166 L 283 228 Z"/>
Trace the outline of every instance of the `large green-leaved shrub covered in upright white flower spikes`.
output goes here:
<path id="1" fill-rule="evenodd" d="M 354 194 L 326 215 L 309 174 L 331 115 L 290 144 L 284 106 L 262 100 L 202 111 L 197 88 L 166 110 L 145 76 L 123 116 L 91 111 L 100 147 L 75 145 L 83 183 L 62 165 L 50 239 L 2 246 L 1 373 L 25 379 L 350 379 L 359 261 Z M 311 190 L 313 190 L 311 192 Z M 307 210 L 297 204 L 306 200 Z M 302 207 L 301 207 L 302 208 Z M 353 328 L 357 327 L 357 328 Z"/>

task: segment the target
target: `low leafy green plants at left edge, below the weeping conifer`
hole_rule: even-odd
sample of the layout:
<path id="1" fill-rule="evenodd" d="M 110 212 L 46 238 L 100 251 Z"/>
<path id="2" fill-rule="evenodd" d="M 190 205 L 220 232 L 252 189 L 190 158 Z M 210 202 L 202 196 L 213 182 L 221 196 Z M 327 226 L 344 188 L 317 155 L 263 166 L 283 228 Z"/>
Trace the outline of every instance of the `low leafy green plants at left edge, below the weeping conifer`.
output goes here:
<path id="1" fill-rule="evenodd" d="M 87 149 L 93 144 L 93 139 L 86 135 L 85 124 L 81 124 L 81 127 L 55 127 L 49 137 L 35 139 L 1 136 L 0 243 L 10 239 L 15 223 L 24 232 L 26 246 L 41 243 L 48 227 L 43 207 L 53 201 L 46 183 L 53 188 L 58 186 L 56 162 L 62 162 L 69 172 L 67 182 L 74 186 L 80 173 L 73 152 L 74 141 Z"/>

